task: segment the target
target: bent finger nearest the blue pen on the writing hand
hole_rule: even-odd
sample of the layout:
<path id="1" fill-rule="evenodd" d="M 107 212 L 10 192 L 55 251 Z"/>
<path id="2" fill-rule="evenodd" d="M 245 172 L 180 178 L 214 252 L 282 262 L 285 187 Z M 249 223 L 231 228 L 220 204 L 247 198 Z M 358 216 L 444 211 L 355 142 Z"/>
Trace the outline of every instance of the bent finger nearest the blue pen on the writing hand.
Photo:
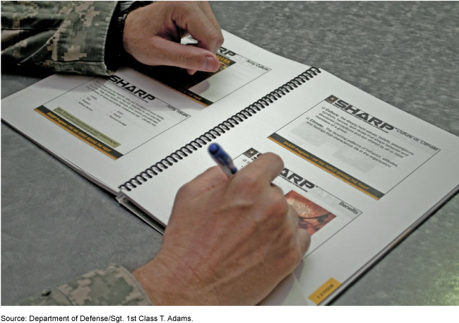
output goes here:
<path id="1" fill-rule="evenodd" d="M 239 172 L 244 176 L 255 177 L 257 180 L 264 179 L 270 183 L 273 182 L 275 177 L 278 177 L 283 169 L 284 162 L 278 155 L 275 153 L 263 153 Z M 239 175 L 239 172 L 236 176 Z"/>

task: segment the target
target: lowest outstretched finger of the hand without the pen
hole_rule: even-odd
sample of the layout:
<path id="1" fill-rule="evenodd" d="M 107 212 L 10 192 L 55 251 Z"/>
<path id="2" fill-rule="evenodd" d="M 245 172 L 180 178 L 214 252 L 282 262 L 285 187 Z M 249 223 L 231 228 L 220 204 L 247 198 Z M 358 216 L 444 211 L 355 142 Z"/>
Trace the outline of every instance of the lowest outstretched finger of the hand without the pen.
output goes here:
<path id="1" fill-rule="evenodd" d="M 215 54 L 208 50 L 196 46 L 177 44 L 161 37 L 156 37 L 154 42 L 155 48 L 160 50 L 155 61 L 160 61 L 161 65 L 210 72 L 217 71 L 220 67 L 220 61 L 218 61 Z"/>

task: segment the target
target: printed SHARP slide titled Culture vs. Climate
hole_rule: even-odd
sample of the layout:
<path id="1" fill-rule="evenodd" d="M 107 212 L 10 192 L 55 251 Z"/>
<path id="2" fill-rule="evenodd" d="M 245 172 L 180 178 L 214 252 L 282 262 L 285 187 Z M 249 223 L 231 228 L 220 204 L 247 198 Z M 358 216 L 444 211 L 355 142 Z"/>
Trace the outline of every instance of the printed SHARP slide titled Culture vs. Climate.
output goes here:
<path id="1" fill-rule="evenodd" d="M 334 95 L 268 138 L 374 199 L 440 151 Z"/>

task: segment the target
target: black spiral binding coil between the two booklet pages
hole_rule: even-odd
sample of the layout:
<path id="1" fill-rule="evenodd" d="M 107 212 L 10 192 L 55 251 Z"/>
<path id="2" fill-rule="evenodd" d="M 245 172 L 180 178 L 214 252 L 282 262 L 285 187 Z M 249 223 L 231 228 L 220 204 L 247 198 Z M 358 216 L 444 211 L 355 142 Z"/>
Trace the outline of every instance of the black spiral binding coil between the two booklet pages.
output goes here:
<path id="1" fill-rule="evenodd" d="M 237 112 L 237 114 L 234 114 L 232 117 L 229 117 L 221 124 L 218 124 L 216 127 L 213 127 L 213 129 L 210 129 L 209 131 L 205 132 L 201 136 L 198 136 L 198 138 L 194 139 L 193 141 L 190 141 L 174 153 L 171 153 L 166 158 L 151 165 L 149 168 L 147 168 L 140 174 L 132 177 L 124 184 L 119 185 L 118 188 L 127 189 L 128 191 L 135 189 L 137 185 L 141 185 L 144 182 L 148 181 L 150 178 L 153 178 L 153 176 L 158 175 L 163 170 L 167 170 L 167 168 L 174 165 L 174 163 L 178 163 L 179 160 L 184 159 L 186 156 L 188 156 L 188 154 L 193 153 L 193 151 L 197 151 L 199 148 L 202 148 L 203 146 L 207 145 L 207 143 L 209 143 L 210 141 L 217 139 L 222 134 L 225 134 L 226 131 L 229 131 L 232 128 L 236 127 L 240 122 L 244 122 L 244 120 L 249 119 L 249 117 L 252 117 L 252 115 L 256 114 L 256 112 L 259 112 L 265 107 L 268 107 L 268 105 L 282 98 L 282 96 L 286 95 L 287 93 L 290 93 L 290 91 L 294 90 L 295 88 L 298 88 L 302 84 L 306 83 L 306 81 L 309 81 L 311 78 L 314 78 L 314 76 L 317 76 L 317 74 L 319 73 L 321 73 L 321 71 L 316 67 L 311 67 L 310 69 L 307 69 L 302 74 L 299 74 L 295 78 L 292 78 L 292 80 L 288 81 L 283 86 L 276 88 L 272 92 L 263 96 L 263 98 L 256 100 L 248 107 L 245 107 L 241 111 Z"/>

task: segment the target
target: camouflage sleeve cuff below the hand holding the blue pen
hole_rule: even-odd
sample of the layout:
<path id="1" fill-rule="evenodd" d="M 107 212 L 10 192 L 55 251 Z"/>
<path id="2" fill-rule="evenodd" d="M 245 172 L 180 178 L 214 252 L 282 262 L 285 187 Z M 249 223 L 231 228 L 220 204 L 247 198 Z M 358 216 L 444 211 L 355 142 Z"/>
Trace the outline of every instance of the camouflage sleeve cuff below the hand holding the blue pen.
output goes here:
<path id="1" fill-rule="evenodd" d="M 153 305 L 135 278 L 121 266 L 97 269 L 18 305 Z"/>

